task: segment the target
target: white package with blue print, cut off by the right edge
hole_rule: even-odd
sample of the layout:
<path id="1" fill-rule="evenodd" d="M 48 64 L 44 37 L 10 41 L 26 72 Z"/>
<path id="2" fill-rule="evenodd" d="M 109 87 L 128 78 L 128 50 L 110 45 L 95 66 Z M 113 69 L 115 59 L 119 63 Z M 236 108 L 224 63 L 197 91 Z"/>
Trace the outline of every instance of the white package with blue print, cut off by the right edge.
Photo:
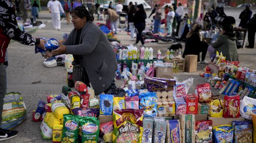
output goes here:
<path id="1" fill-rule="evenodd" d="M 245 96 L 240 103 L 241 117 L 252 120 L 252 115 L 256 115 L 256 99 Z"/>

